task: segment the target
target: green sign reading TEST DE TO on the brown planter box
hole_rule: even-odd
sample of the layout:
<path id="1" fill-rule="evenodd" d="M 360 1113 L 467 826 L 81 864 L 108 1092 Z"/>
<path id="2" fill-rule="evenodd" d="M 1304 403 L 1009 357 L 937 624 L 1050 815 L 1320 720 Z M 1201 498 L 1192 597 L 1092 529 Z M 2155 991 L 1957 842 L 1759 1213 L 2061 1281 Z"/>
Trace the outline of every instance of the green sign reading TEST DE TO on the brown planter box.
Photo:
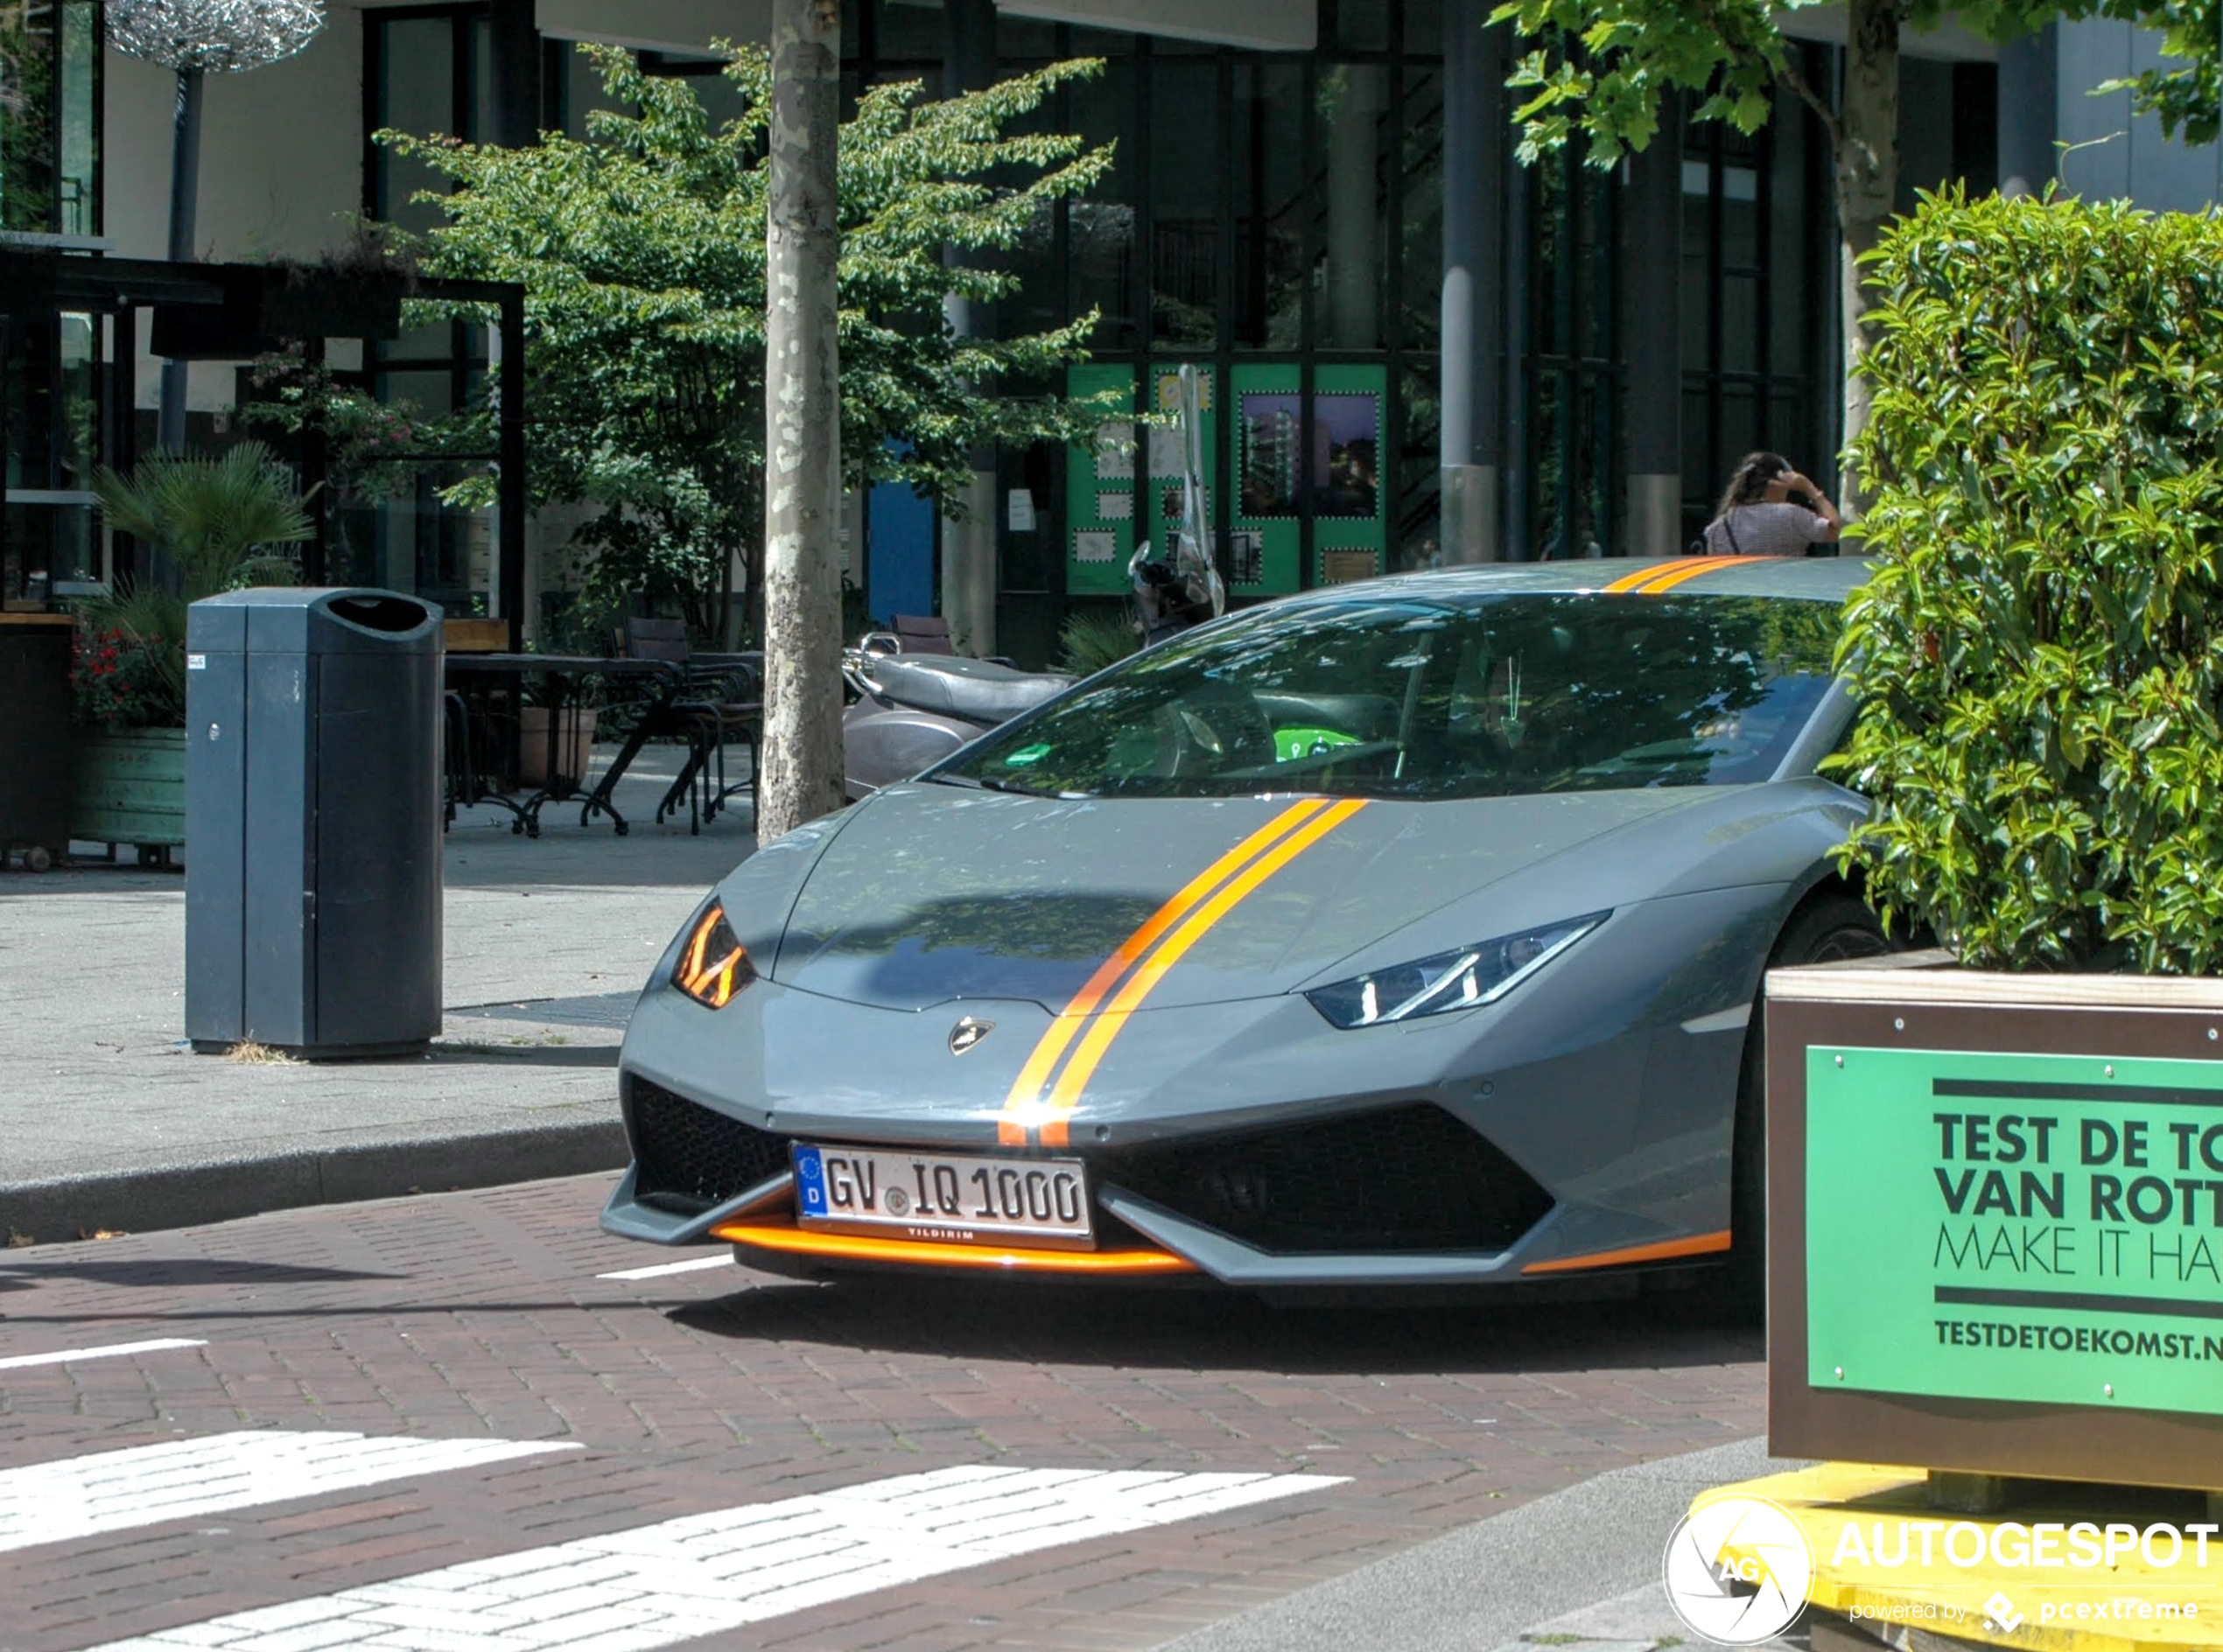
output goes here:
<path id="1" fill-rule="evenodd" d="M 2223 1414 L 2223 1063 L 1807 1049 L 1807 1381 Z"/>

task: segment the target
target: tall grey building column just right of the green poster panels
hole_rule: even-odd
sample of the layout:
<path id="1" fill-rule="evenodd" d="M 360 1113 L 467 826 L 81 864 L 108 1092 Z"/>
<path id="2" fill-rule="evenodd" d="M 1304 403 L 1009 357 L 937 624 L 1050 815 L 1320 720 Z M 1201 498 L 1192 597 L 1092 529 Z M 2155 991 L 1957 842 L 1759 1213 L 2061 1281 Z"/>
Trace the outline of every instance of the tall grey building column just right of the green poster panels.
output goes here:
<path id="1" fill-rule="evenodd" d="M 1489 0 L 1443 7 L 1443 436 L 1445 563 L 1494 563 L 1505 451 L 1505 31 Z"/>

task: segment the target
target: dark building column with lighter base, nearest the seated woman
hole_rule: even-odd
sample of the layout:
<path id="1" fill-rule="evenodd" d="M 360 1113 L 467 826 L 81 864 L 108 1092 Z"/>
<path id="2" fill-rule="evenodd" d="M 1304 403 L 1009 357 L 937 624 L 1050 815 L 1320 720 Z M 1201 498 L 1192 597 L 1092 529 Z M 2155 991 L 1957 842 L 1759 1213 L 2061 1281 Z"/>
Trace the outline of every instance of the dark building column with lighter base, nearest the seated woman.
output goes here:
<path id="1" fill-rule="evenodd" d="M 1669 102 L 1621 189 L 1621 360 L 1629 556 L 1683 549 L 1683 116 Z"/>

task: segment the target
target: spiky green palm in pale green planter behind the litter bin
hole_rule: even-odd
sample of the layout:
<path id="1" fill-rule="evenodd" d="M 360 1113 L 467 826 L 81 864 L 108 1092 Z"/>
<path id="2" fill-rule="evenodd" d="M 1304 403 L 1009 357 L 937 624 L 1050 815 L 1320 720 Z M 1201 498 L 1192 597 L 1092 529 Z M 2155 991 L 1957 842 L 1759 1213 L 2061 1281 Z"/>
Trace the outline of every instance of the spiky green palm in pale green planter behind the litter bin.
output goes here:
<path id="1" fill-rule="evenodd" d="M 291 585 L 269 547 L 311 536 L 291 478 L 262 442 L 222 458 L 153 456 L 93 478 L 107 525 L 165 551 L 176 591 L 122 587 L 78 605 L 78 743 L 69 836 L 185 843 L 185 611 L 245 585 Z"/>

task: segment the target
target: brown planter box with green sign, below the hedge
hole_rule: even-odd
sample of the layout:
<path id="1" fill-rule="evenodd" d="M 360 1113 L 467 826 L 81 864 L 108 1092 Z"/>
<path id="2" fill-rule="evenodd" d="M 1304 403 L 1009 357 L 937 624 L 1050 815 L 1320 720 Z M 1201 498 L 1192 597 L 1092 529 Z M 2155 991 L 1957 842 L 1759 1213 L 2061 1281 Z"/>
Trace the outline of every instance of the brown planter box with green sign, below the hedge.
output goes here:
<path id="1" fill-rule="evenodd" d="M 2223 1490 L 2223 981 L 1767 976 L 1767 1447 Z"/>

